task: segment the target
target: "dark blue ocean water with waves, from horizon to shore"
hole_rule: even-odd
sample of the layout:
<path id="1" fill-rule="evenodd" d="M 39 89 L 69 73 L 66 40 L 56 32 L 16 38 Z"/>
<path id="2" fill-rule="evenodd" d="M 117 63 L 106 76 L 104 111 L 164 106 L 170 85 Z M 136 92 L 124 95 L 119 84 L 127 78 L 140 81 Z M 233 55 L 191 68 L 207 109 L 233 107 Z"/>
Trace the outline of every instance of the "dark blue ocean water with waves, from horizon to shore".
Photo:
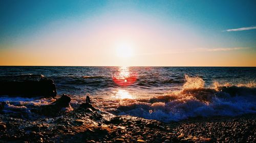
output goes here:
<path id="1" fill-rule="evenodd" d="M 256 113 L 255 67 L 0 67 L 0 78 L 42 74 L 54 80 L 58 96 L 71 96 L 71 107 L 86 95 L 92 104 L 115 115 L 162 122 L 193 117 Z M 6 113 L 55 99 L 0 97 Z M 27 114 L 27 115 L 26 115 Z"/>

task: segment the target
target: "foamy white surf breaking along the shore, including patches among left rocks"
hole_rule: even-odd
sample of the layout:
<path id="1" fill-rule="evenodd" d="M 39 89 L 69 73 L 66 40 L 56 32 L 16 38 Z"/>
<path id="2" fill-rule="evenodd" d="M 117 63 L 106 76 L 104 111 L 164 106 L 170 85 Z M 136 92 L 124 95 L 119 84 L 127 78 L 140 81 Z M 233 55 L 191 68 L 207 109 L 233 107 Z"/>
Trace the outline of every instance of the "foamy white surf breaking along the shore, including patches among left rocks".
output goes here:
<path id="1" fill-rule="evenodd" d="M 120 95 L 91 96 L 92 104 L 115 115 L 131 115 L 162 122 L 180 121 L 191 117 L 238 116 L 244 113 L 256 113 L 255 82 L 248 84 L 218 83 L 205 88 L 200 77 L 185 76 L 186 82 L 178 91 L 162 95 Z M 118 92 L 113 92 L 113 94 Z M 133 97 L 131 99 L 127 99 Z M 86 99 L 84 96 L 71 96 L 71 111 Z M 56 99 L 38 99 L 22 97 L 0 97 L 5 101 L 5 112 L 22 113 L 31 116 L 32 106 L 47 105 Z"/>

